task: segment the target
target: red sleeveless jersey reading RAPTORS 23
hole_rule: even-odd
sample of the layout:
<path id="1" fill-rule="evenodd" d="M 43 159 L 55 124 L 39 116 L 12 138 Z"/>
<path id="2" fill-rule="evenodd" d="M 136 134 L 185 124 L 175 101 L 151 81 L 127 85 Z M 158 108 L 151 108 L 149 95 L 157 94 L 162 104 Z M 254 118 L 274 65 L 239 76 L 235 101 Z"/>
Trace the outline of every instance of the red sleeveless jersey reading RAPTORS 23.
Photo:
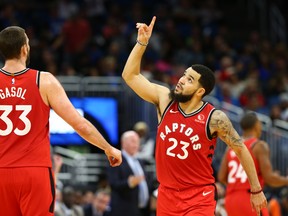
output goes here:
<path id="1" fill-rule="evenodd" d="M 158 125 L 156 169 L 160 184 L 175 189 L 215 182 L 211 166 L 216 138 L 209 121 L 215 108 L 207 103 L 185 114 L 177 102 L 171 102 Z"/>

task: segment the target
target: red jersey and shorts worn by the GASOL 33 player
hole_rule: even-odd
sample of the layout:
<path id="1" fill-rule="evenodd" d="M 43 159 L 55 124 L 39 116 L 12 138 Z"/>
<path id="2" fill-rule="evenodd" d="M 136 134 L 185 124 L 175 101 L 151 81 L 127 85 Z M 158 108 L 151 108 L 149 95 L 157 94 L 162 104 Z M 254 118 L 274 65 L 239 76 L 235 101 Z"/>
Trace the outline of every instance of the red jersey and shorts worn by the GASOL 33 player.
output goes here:
<path id="1" fill-rule="evenodd" d="M 42 100 L 39 80 L 36 70 L 27 68 L 11 76 L 0 69 L 1 215 L 53 215 L 50 107 Z"/>

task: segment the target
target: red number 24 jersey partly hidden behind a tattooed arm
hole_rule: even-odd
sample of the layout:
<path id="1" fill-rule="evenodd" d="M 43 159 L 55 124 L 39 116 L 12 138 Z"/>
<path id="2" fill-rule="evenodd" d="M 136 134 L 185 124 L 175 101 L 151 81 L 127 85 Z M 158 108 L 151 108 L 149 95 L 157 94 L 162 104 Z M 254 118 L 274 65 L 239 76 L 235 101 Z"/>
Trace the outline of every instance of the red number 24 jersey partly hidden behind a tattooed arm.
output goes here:
<path id="1" fill-rule="evenodd" d="M 252 147 L 258 142 L 257 138 L 250 138 L 244 141 L 247 146 L 255 164 L 256 172 L 258 175 L 259 182 L 261 186 L 264 186 L 264 179 L 262 177 L 259 162 L 256 160 L 252 153 Z M 236 190 L 250 190 L 250 184 L 246 172 L 244 171 L 238 157 L 232 149 L 227 152 L 227 162 L 228 162 L 228 179 L 226 194 L 232 193 Z"/>

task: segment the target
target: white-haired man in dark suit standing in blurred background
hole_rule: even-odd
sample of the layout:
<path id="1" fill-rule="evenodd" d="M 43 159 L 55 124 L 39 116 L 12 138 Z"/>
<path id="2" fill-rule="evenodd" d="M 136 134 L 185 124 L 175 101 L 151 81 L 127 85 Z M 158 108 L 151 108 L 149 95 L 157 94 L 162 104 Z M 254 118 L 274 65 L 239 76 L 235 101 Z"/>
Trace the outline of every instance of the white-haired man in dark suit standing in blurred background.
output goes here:
<path id="1" fill-rule="evenodd" d="M 144 166 L 136 158 L 140 147 L 139 135 L 135 131 L 124 132 L 121 147 L 122 164 L 115 169 L 108 167 L 108 181 L 112 190 L 111 216 L 149 216 L 148 182 Z"/>

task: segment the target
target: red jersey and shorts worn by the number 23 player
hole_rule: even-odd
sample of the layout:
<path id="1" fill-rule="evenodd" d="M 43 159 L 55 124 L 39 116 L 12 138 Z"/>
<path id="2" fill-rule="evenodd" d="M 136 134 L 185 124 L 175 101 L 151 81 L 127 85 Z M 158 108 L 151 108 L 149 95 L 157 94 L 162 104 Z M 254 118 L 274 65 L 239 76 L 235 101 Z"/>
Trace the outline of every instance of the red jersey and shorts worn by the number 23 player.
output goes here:
<path id="1" fill-rule="evenodd" d="M 207 102 L 190 114 L 177 102 L 167 106 L 157 132 L 157 215 L 214 215 L 216 190 L 211 164 L 216 137 L 209 130 L 214 110 Z"/>

